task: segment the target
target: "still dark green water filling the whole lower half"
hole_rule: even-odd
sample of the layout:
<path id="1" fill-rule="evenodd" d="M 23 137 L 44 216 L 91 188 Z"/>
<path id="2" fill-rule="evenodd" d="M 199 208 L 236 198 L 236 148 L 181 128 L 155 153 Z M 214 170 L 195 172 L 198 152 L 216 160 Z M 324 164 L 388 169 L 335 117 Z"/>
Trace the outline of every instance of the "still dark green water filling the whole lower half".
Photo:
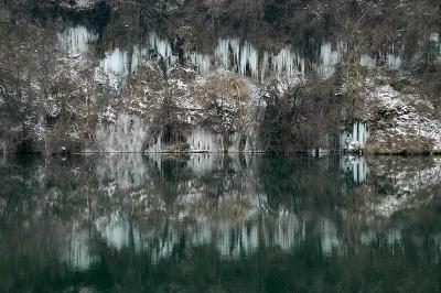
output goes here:
<path id="1" fill-rule="evenodd" d="M 438 292 L 441 158 L 0 159 L 0 292 Z"/>

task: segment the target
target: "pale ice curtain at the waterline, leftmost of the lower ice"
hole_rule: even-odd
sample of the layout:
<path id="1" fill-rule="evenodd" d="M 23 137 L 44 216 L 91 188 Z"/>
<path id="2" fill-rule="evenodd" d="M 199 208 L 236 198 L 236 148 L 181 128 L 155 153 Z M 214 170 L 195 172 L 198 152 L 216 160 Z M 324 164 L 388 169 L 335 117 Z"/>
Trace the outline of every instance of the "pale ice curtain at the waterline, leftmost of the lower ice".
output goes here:
<path id="1" fill-rule="evenodd" d="M 115 123 L 99 122 L 95 134 L 105 152 L 141 152 L 147 127 L 139 117 L 120 115 Z"/>

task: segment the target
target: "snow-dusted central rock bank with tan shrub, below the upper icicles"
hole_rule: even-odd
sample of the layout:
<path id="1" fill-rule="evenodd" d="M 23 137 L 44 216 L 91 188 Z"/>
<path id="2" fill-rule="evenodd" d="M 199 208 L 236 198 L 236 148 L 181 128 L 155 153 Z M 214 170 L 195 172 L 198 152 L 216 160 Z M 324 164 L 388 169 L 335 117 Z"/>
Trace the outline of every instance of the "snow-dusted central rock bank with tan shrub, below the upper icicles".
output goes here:
<path id="1" fill-rule="evenodd" d="M 207 78 L 173 66 L 161 77 L 155 62 L 140 65 L 125 102 L 98 113 L 93 151 L 248 152 L 256 149 L 248 82 L 234 74 Z M 107 76 L 106 73 L 101 73 Z M 106 78 L 105 78 L 106 79 Z M 154 91 L 152 91 L 154 89 Z"/>

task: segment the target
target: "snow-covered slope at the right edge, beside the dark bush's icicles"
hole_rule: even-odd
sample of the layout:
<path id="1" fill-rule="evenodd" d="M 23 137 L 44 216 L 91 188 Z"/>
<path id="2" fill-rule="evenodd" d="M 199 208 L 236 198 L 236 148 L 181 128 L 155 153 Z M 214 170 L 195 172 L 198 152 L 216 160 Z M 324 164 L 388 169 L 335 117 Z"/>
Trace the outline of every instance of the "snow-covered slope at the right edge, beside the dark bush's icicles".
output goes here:
<path id="1" fill-rule="evenodd" d="M 434 116 L 433 105 L 423 96 L 368 83 L 364 109 L 370 127 L 366 152 L 441 152 L 441 121 Z"/>

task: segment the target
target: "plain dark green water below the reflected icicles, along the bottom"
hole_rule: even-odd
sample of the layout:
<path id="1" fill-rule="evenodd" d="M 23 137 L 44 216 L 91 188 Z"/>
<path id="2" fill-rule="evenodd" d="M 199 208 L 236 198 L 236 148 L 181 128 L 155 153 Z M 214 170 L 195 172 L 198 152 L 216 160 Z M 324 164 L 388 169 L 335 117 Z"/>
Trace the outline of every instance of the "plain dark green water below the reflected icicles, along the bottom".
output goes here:
<path id="1" fill-rule="evenodd" d="M 2 285 L 18 291 L 62 291 L 71 286 L 89 286 L 103 291 L 123 287 L 130 292 L 165 289 L 228 291 L 232 287 L 236 291 L 269 292 L 372 289 L 381 292 L 397 289 L 435 292 L 439 286 L 439 264 L 434 261 L 440 256 L 439 242 L 437 245 L 429 238 L 416 239 L 419 234 L 416 230 L 404 234 L 399 243 L 387 243 L 387 237 L 378 235 L 378 239 L 370 245 L 343 254 L 323 253 L 320 235 L 308 234 L 302 245 L 289 251 L 278 247 L 259 247 L 254 253 L 236 260 L 222 259 L 209 243 L 185 245 L 185 237 L 182 237 L 172 254 L 158 263 L 151 261 L 148 251 L 133 251 L 127 247 L 116 250 L 94 241 L 94 253 L 98 259 L 89 270 L 84 271 L 73 270 L 60 262 L 60 256 L 54 253 L 58 242 L 53 241 L 57 237 L 49 239 L 44 232 L 35 231 L 39 230 L 24 236 L 29 254 L 17 249 L 17 238 L 9 238 L 7 251 L 2 242 L 4 254 L 0 254 L 0 268 L 3 272 L 13 270 L 15 273 L 3 274 Z M 40 239 L 44 242 L 39 243 Z M 12 263 L 12 258 L 15 263 Z"/>

